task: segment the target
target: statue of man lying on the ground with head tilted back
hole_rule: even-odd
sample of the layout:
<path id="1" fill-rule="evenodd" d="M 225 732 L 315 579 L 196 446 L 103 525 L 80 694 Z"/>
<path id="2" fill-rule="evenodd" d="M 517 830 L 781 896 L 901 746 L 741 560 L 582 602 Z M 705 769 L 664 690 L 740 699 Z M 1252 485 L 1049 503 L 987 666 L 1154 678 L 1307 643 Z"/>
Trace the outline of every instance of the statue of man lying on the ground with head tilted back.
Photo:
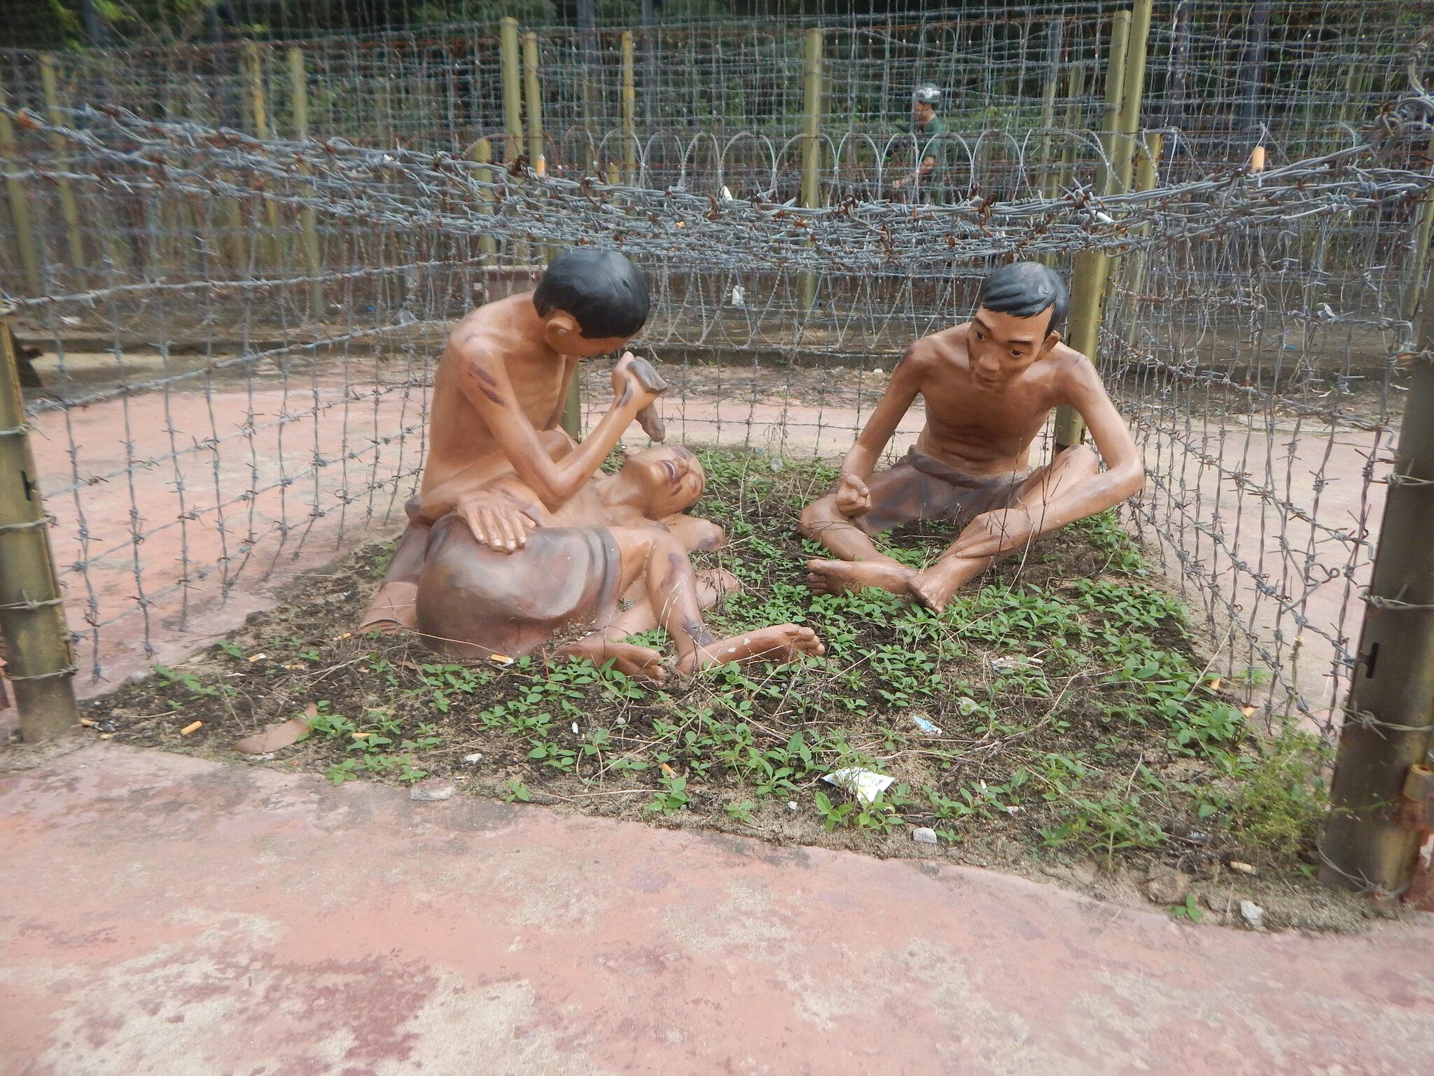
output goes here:
<path id="1" fill-rule="evenodd" d="M 561 458 L 558 438 L 543 440 Z M 684 515 L 704 482 L 684 448 L 630 452 L 617 475 L 595 479 L 552 512 L 516 475 L 469 468 L 424 495 L 414 514 L 417 525 L 442 516 L 419 577 L 419 631 L 455 656 L 521 657 L 564 628 L 589 628 L 558 653 L 614 660 L 618 670 L 654 680 L 663 679 L 661 654 L 624 640 L 658 624 L 673 636 L 678 673 L 825 653 L 816 633 L 797 624 L 713 640 L 701 610 L 736 580 L 703 577 L 687 558 L 691 548 L 724 541 L 716 524 Z M 625 613 L 624 595 L 634 598 Z"/>

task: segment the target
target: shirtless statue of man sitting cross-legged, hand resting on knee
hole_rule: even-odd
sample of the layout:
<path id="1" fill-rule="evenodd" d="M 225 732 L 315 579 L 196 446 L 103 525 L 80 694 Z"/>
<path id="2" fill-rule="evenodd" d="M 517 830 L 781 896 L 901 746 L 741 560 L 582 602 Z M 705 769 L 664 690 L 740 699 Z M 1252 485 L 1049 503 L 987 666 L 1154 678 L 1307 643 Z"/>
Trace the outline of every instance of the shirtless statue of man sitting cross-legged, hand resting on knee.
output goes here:
<path id="1" fill-rule="evenodd" d="M 982 281 L 971 321 L 906 350 L 846 453 L 836 491 L 802 512 L 802 534 L 842 558 L 809 561 L 812 590 L 878 587 L 939 611 L 998 557 L 1140 489 L 1144 468 L 1100 374 L 1061 343 L 1068 306 L 1053 270 L 1005 265 Z M 926 426 L 916 446 L 873 475 L 918 393 Z M 1084 445 L 1030 468 L 1031 442 L 1058 405 L 1086 420 L 1107 471 Z M 870 538 L 913 519 L 952 518 L 969 525 L 925 571 L 883 555 Z"/>

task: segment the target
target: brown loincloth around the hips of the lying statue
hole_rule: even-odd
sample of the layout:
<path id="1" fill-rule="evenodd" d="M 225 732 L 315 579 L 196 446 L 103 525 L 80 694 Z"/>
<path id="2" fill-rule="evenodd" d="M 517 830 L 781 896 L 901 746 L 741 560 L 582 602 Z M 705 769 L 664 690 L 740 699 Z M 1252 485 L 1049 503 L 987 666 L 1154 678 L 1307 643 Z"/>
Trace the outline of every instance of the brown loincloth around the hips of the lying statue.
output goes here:
<path id="1" fill-rule="evenodd" d="M 424 641 L 455 657 L 522 657 L 617 613 L 622 554 L 605 527 L 541 527 L 495 552 L 457 515 L 433 525 L 416 600 Z"/>

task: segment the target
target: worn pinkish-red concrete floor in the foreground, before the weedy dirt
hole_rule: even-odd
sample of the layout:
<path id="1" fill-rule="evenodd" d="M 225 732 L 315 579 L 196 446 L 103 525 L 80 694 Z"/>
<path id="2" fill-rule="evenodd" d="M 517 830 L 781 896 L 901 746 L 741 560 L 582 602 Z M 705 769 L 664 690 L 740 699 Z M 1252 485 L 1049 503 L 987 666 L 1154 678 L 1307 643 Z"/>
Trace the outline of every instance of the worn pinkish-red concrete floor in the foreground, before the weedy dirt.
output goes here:
<path id="1" fill-rule="evenodd" d="M 1427 1072 L 1434 918 L 1177 925 L 978 869 L 95 745 L 0 779 L 6 1076 Z"/>

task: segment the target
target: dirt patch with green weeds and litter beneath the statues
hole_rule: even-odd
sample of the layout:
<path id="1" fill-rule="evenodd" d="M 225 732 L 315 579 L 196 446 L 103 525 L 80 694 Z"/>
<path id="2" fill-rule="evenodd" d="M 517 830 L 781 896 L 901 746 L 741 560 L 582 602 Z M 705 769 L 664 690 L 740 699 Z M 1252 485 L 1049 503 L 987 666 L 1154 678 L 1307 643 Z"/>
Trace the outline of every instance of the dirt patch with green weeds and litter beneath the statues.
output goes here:
<path id="1" fill-rule="evenodd" d="M 587 663 L 450 663 L 416 637 L 353 634 L 390 548 L 373 544 L 201 657 L 100 700 L 92 730 L 235 759 L 234 742 L 308 710 L 307 739 L 252 765 L 439 778 L 459 793 L 944 858 L 1111 900 L 1147 902 L 1147 878 L 1179 871 L 1192 888 L 1169 907 L 1187 918 L 1238 925 L 1246 900 L 1265 928 L 1365 921 L 1362 902 L 1309 878 L 1318 745 L 1252 736 L 1239 686 L 1206 673 L 1183 608 L 1113 518 L 1037 542 L 934 615 L 878 591 L 806 590 L 813 549 L 793 525 L 829 469 L 703 458 L 697 512 L 731 542 L 695 560 L 744 584 L 714 631 L 807 623 L 825 659 L 661 690 Z M 891 549 L 921 564 L 951 534 L 903 528 Z M 891 785 L 863 802 L 823 780 L 850 768 Z"/>

